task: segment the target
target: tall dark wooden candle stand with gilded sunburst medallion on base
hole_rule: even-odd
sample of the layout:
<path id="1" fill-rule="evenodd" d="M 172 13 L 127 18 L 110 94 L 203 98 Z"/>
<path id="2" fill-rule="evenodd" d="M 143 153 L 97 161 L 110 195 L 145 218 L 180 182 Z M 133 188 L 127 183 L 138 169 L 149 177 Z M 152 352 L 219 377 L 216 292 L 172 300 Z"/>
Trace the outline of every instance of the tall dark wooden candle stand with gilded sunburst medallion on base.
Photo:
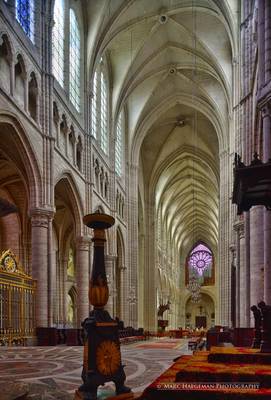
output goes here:
<path id="1" fill-rule="evenodd" d="M 105 229 L 115 220 L 107 214 L 89 214 L 84 224 L 94 230 L 93 268 L 89 284 L 89 302 L 94 307 L 82 326 L 86 340 L 84 344 L 83 384 L 75 393 L 75 399 L 96 400 L 98 386 L 113 381 L 117 395 L 131 394 L 124 385 L 126 375 L 121 363 L 118 324 L 104 310 L 109 297 L 104 261 Z M 132 396 L 133 397 L 133 396 Z"/>

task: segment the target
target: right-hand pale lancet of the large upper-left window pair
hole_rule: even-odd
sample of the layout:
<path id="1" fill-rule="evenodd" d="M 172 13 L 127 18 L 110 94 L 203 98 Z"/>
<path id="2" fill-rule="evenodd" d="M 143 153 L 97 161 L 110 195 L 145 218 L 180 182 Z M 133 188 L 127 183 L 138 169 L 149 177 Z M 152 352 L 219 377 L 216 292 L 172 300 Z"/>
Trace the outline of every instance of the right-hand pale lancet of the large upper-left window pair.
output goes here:
<path id="1" fill-rule="evenodd" d="M 80 30 L 75 12 L 70 9 L 70 100 L 80 111 Z"/>

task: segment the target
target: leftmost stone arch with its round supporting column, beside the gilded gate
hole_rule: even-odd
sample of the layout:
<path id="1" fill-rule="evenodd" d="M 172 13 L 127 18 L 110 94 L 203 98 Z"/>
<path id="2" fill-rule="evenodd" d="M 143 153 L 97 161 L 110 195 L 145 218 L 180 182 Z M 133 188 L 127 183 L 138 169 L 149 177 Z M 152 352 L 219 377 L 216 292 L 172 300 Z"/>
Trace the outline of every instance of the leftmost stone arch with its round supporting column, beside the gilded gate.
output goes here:
<path id="1" fill-rule="evenodd" d="M 38 326 L 47 326 L 48 210 L 41 207 L 37 154 L 19 121 L 4 113 L 0 114 L 0 196 L 18 209 L 0 218 L 0 250 L 10 248 L 24 271 L 37 280 L 36 320 Z"/>

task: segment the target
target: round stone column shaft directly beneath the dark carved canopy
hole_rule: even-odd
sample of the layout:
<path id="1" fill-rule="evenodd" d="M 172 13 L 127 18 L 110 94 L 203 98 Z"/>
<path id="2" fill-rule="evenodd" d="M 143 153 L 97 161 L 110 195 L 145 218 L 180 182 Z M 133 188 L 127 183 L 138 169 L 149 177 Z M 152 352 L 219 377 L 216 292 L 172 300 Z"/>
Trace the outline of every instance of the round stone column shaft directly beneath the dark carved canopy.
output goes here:
<path id="1" fill-rule="evenodd" d="M 250 210 L 250 306 L 263 300 L 263 266 L 263 207 L 255 206 Z M 252 313 L 250 320 L 253 324 Z"/>

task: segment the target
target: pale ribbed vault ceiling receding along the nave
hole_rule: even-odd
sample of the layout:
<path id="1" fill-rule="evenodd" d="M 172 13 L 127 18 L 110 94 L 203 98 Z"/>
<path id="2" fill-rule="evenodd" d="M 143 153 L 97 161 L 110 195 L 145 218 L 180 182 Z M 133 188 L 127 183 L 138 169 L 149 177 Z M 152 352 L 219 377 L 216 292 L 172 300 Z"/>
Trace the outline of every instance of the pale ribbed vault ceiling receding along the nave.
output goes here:
<path id="1" fill-rule="evenodd" d="M 129 158 L 141 160 L 144 197 L 162 210 L 164 229 L 178 248 L 201 239 L 214 249 L 237 1 L 95 3 L 86 2 L 89 73 L 105 54 L 113 118 L 124 106 Z"/>

